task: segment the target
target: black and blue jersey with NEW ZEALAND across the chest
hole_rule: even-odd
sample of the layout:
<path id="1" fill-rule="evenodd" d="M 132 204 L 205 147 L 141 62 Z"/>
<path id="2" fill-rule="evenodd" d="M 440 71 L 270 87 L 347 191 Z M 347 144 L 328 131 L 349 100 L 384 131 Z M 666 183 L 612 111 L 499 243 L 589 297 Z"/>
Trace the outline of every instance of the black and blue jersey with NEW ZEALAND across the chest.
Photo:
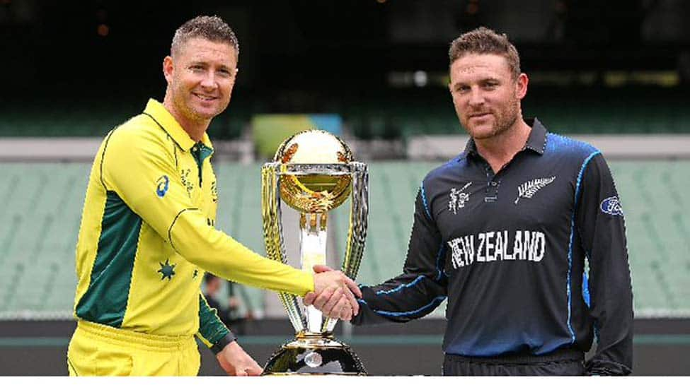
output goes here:
<path id="1" fill-rule="evenodd" d="M 403 273 L 362 287 L 353 323 L 410 321 L 447 298 L 447 355 L 586 352 L 596 335 L 590 372 L 628 374 L 631 276 L 609 167 L 587 143 L 528 124 L 496 174 L 471 139 L 427 174 Z"/>

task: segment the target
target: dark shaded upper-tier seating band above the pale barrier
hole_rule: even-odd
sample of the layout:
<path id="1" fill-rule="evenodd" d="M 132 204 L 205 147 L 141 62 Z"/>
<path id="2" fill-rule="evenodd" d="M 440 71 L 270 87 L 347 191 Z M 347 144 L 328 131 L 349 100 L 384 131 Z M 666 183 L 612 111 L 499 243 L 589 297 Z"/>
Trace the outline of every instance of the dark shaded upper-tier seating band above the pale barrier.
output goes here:
<path id="1" fill-rule="evenodd" d="M 103 136 L 140 112 L 143 103 L 0 106 L 0 136 Z M 672 134 L 690 133 L 689 103 L 682 88 L 531 88 L 522 108 L 524 116 L 536 115 L 559 134 Z M 280 112 L 269 106 L 253 95 L 233 99 L 228 112 L 214 119 L 209 134 L 238 138 L 247 131 L 253 114 Z M 372 90 L 333 101 L 324 112 L 340 114 L 345 127 L 363 139 L 461 130 L 443 88 Z"/>

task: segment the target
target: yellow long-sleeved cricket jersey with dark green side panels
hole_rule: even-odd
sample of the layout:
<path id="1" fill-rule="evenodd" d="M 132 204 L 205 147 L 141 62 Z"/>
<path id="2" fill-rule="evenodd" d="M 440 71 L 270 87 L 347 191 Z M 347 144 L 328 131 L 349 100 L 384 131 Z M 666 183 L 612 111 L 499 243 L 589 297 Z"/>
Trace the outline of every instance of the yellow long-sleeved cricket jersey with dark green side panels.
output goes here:
<path id="1" fill-rule="evenodd" d="M 311 274 L 214 228 L 212 153 L 206 134 L 192 141 L 156 100 L 105 137 L 76 247 L 79 319 L 161 336 L 197 333 L 210 346 L 229 331 L 201 293 L 205 271 L 296 295 L 314 290 Z"/>

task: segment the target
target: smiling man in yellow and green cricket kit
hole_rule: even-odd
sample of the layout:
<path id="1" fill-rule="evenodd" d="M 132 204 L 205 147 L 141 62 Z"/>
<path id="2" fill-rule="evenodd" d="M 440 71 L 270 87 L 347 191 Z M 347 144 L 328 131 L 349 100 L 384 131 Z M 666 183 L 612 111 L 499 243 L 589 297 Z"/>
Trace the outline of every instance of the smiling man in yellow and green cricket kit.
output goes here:
<path id="1" fill-rule="evenodd" d="M 76 247 L 69 374 L 196 375 L 194 336 L 228 374 L 260 374 L 202 295 L 205 271 L 300 296 L 333 292 L 340 300 L 326 316 L 357 314 L 361 292 L 343 273 L 299 271 L 214 228 L 218 194 L 206 130 L 229 104 L 237 61 L 237 39 L 222 19 L 189 20 L 163 61 L 163 103 L 149 100 L 100 146 Z"/>

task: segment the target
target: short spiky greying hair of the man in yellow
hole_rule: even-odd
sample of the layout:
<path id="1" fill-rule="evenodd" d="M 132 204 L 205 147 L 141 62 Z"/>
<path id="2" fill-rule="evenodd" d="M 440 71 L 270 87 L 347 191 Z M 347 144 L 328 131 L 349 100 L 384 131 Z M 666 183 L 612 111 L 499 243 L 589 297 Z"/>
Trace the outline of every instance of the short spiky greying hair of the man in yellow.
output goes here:
<path id="1" fill-rule="evenodd" d="M 235 54 L 240 54 L 240 43 L 230 25 L 218 16 L 197 16 L 180 25 L 173 36 L 170 53 L 180 52 L 180 47 L 192 37 L 203 37 L 212 42 L 224 42 L 235 49 Z"/>

